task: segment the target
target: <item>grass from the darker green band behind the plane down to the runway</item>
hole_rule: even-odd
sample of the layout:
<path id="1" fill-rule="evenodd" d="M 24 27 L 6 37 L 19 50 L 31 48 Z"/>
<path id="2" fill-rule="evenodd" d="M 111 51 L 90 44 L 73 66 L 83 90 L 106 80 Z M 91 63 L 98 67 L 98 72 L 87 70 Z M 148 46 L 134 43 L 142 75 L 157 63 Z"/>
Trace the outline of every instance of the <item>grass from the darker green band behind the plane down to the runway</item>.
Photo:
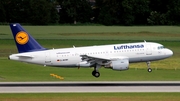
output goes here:
<path id="1" fill-rule="evenodd" d="M 123 43 L 123 41 L 101 41 L 101 40 L 38 40 L 43 46 L 48 48 Z M 16 53 L 13 40 L 0 40 L 2 49 L 0 58 L 0 81 L 61 81 L 50 76 L 51 73 L 64 77 L 64 81 L 179 81 L 180 80 L 180 42 L 160 42 L 174 51 L 171 58 L 155 61 L 151 63 L 152 73 L 147 72 L 146 63 L 130 64 L 130 70 L 113 71 L 110 69 L 100 69 L 101 77 L 94 78 L 91 75 L 92 68 L 56 68 L 43 67 L 39 65 L 21 63 L 7 60 L 8 55 Z M 54 44 L 60 43 L 60 44 Z M 63 43 L 63 44 L 62 44 Z M 73 44 L 72 44 L 73 43 Z M 72 44 L 72 45 L 71 45 Z M 157 69 L 157 70 L 156 70 Z M 138 78 L 137 78 L 138 77 Z"/>

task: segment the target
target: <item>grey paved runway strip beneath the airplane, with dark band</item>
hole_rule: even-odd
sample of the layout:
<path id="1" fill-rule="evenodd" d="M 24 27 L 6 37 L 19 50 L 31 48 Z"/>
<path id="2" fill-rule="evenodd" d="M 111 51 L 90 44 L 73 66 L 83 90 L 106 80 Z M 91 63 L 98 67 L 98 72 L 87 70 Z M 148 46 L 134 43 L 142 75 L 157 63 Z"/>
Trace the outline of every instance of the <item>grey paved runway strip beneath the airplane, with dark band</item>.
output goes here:
<path id="1" fill-rule="evenodd" d="M 180 81 L 0 82 L 0 93 L 180 92 Z"/>

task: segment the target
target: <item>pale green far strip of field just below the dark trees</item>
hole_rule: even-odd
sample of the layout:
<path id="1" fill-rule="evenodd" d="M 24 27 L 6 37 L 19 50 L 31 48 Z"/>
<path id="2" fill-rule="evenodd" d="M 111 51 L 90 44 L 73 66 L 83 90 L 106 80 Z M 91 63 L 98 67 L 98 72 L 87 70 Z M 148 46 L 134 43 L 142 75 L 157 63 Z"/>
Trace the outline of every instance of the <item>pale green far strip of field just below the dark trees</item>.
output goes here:
<path id="1" fill-rule="evenodd" d="M 23 26 L 36 39 L 178 40 L 177 26 Z M 9 26 L 0 26 L 0 39 L 12 39 Z"/>

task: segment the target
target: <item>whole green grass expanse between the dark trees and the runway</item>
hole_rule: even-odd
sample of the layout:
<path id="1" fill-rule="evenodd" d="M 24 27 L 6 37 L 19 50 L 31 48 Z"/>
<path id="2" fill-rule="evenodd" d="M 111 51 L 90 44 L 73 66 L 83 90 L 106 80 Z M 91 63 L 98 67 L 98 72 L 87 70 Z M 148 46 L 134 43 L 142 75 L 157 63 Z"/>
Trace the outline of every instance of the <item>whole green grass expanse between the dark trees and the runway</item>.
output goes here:
<path id="1" fill-rule="evenodd" d="M 130 70 L 100 69 L 101 77 L 91 75 L 92 68 L 53 68 L 7 60 L 17 53 L 9 26 L 0 26 L 0 81 L 59 81 L 51 73 L 64 77 L 64 81 L 179 81 L 180 80 L 180 28 L 177 26 L 24 26 L 45 48 L 63 48 L 103 44 L 153 41 L 173 50 L 171 58 L 151 63 L 130 64 Z"/>

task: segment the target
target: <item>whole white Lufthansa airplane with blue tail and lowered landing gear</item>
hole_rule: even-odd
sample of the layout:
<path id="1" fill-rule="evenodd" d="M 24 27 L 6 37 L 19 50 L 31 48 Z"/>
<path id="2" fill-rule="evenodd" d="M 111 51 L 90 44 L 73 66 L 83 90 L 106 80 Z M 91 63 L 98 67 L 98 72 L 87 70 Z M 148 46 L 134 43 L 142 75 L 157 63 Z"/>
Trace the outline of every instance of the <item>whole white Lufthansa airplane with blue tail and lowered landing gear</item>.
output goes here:
<path id="1" fill-rule="evenodd" d="M 18 49 L 9 55 L 10 60 L 43 66 L 79 68 L 93 67 L 92 75 L 99 77 L 101 67 L 123 71 L 129 63 L 146 62 L 151 72 L 150 62 L 169 58 L 170 49 L 155 42 L 135 42 L 112 45 L 47 49 L 42 47 L 19 23 L 11 23 L 10 28 Z"/>

